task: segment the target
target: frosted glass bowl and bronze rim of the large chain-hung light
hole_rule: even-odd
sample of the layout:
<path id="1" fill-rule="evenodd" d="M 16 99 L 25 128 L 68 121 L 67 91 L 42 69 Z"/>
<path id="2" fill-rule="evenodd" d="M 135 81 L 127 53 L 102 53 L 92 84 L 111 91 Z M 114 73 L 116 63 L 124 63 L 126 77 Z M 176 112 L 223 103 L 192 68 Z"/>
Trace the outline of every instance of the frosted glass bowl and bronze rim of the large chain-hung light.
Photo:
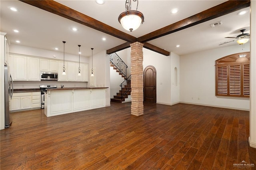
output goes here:
<path id="1" fill-rule="evenodd" d="M 137 30 L 140 24 L 144 22 L 144 16 L 139 11 L 131 10 L 129 12 L 122 12 L 118 17 L 118 21 L 125 30 L 132 32 Z"/>

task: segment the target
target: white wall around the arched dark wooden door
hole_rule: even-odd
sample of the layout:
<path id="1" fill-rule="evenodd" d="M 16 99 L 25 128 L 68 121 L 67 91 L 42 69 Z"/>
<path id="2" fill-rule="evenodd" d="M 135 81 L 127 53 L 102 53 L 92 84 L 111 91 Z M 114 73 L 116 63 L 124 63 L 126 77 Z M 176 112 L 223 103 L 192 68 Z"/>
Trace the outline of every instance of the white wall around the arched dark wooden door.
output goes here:
<path id="1" fill-rule="evenodd" d="M 156 103 L 171 105 L 171 56 L 165 56 L 143 48 L 143 70 L 156 68 Z"/>

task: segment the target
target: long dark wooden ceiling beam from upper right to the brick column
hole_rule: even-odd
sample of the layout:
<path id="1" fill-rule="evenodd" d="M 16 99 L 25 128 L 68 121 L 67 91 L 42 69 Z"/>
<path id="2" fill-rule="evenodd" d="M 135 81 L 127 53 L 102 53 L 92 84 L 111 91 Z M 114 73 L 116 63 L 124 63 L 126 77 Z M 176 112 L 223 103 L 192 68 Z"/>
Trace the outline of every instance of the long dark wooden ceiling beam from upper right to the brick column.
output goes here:
<path id="1" fill-rule="evenodd" d="M 208 10 L 204 10 L 198 14 L 180 20 L 174 24 L 170 24 L 166 27 L 160 28 L 159 30 L 148 33 L 144 36 L 138 38 L 138 42 L 144 43 L 168 34 L 184 30 L 185 28 L 192 27 L 194 25 L 200 24 L 218 18 L 220 16 L 235 12 L 237 10 L 243 9 L 250 6 L 250 0 L 229 0 Z"/>

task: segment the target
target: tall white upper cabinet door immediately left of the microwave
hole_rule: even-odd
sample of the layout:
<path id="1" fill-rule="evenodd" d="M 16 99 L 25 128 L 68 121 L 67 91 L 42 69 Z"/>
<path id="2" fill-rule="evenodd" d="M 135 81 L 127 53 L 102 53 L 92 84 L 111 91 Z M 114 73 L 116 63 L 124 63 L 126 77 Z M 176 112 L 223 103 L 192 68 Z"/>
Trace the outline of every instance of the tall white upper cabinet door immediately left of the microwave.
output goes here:
<path id="1" fill-rule="evenodd" d="M 28 81 L 40 81 L 40 61 L 38 58 L 28 57 L 27 58 L 28 70 L 27 78 Z"/>

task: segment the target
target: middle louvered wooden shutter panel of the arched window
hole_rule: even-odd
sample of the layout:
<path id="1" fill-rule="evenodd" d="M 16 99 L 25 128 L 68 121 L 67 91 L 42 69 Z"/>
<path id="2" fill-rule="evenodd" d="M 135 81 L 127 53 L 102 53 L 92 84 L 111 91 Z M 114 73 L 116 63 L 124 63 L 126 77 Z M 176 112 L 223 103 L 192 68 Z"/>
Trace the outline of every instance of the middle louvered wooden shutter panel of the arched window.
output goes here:
<path id="1" fill-rule="evenodd" d="M 229 94 L 241 95 L 241 66 L 240 65 L 230 65 Z"/>

